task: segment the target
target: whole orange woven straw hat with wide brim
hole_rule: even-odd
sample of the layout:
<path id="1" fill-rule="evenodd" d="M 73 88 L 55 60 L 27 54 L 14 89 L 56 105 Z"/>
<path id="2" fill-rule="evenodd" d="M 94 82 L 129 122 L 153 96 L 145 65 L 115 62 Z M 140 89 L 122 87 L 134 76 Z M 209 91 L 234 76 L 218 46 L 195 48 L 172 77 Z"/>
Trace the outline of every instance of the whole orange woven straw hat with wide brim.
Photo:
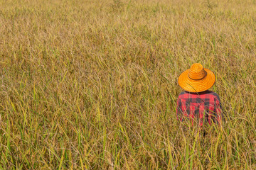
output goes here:
<path id="1" fill-rule="evenodd" d="M 182 89 L 197 93 L 210 89 L 215 83 L 215 75 L 210 69 L 203 68 L 202 64 L 195 63 L 190 69 L 181 73 L 178 84 Z"/>

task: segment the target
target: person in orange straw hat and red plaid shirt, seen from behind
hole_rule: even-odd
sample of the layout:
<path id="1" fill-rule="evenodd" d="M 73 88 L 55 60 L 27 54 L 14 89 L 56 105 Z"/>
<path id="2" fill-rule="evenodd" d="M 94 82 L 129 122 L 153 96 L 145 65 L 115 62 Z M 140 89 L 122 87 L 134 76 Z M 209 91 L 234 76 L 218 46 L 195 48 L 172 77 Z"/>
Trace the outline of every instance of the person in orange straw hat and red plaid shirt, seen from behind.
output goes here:
<path id="1" fill-rule="evenodd" d="M 185 91 L 177 101 L 177 119 L 189 120 L 192 125 L 220 124 L 222 111 L 218 94 L 209 91 L 215 83 L 215 74 L 202 64 L 192 64 L 178 77 L 178 84 Z"/>

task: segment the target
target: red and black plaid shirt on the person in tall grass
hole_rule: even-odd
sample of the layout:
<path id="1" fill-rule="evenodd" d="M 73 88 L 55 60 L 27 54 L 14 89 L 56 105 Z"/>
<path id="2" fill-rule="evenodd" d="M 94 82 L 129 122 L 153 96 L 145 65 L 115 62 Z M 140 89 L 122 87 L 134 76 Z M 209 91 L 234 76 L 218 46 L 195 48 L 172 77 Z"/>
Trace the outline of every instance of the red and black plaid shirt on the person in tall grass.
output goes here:
<path id="1" fill-rule="evenodd" d="M 207 122 L 209 125 L 220 123 L 223 117 L 220 98 L 213 91 L 203 91 L 198 94 L 188 91 L 181 92 L 178 96 L 176 113 L 178 120 L 183 121 L 184 118 L 189 118 L 192 125 L 199 120 L 200 126 L 203 125 L 203 122 Z"/>

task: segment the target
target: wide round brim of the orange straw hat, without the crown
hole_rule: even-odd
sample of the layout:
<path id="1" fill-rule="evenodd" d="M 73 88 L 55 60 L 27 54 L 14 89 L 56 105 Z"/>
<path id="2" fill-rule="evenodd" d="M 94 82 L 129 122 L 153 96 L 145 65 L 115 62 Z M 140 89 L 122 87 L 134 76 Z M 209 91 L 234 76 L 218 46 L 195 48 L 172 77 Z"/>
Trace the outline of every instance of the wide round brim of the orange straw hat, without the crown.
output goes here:
<path id="1" fill-rule="evenodd" d="M 190 69 L 187 69 L 178 77 L 178 84 L 181 86 L 182 89 L 192 93 L 198 93 L 210 89 L 215 83 L 215 74 L 210 71 L 210 69 L 204 69 L 207 74 L 206 77 L 201 80 L 193 80 L 189 78 L 189 70 Z"/>

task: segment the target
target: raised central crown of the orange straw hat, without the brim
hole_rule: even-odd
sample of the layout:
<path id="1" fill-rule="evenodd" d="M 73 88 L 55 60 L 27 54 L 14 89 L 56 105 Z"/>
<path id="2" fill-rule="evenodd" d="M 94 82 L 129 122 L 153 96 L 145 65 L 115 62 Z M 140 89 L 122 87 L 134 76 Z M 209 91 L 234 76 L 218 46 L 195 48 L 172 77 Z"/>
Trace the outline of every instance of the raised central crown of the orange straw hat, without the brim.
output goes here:
<path id="1" fill-rule="evenodd" d="M 207 72 L 203 69 L 203 65 L 200 63 L 192 64 L 191 69 L 188 72 L 188 77 L 193 80 L 200 80 L 206 77 Z"/>

